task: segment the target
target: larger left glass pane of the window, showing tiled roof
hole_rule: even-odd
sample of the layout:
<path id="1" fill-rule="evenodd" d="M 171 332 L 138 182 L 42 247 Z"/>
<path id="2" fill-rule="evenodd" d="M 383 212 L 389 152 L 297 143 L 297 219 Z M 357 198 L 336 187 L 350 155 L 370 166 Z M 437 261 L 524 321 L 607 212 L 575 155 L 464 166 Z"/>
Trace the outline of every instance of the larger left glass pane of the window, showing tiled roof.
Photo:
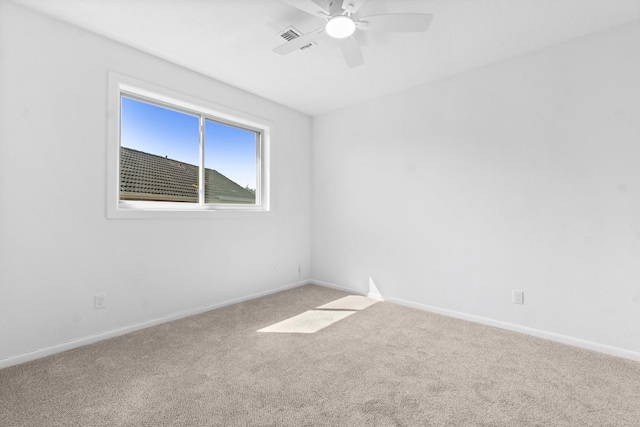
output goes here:
<path id="1" fill-rule="evenodd" d="M 198 202 L 199 118 L 121 97 L 120 200 Z"/>

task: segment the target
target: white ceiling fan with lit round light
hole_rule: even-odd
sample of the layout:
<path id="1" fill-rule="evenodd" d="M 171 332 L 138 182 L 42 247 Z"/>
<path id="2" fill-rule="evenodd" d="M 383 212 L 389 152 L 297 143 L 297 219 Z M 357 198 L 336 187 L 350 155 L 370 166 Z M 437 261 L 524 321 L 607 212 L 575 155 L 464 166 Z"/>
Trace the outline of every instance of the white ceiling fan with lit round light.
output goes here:
<path id="1" fill-rule="evenodd" d="M 419 32 L 426 31 L 433 19 L 433 15 L 424 13 L 391 13 L 358 17 L 357 12 L 366 0 L 332 0 L 328 8 L 314 0 L 280 1 L 322 18 L 326 22 L 323 27 L 276 47 L 273 49 L 275 53 L 286 55 L 325 37 L 326 34 L 340 41 L 342 56 L 351 68 L 364 63 L 362 49 L 353 36 L 356 30 Z"/>

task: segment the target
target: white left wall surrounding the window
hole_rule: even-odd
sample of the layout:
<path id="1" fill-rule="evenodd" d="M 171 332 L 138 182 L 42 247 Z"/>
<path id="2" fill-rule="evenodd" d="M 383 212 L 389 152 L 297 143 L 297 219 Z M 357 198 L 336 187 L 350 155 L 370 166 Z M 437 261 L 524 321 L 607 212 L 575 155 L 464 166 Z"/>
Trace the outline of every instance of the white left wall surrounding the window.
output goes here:
<path id="1" fill-rule="evenodd" d="M 110 70 L 272 121 L 274 215 L 107 220 Z M 303 114 L 0 0 L 0 367 L 304 281 L 310 141 Z"/>

